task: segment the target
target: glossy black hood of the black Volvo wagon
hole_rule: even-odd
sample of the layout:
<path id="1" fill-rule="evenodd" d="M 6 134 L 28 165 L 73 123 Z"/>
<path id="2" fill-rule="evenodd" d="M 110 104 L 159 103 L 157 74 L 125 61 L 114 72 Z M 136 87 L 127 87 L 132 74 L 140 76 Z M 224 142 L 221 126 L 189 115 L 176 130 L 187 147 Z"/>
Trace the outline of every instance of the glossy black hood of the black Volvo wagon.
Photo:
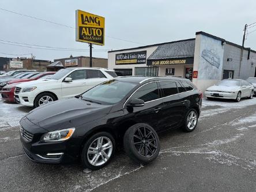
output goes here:
<path id="1" fill-rule="evenodd" d="M 77 127 L 103 118 L 112 106 L 90 103 L 77 98 L 54 101 L 27 114 L 29 121 L 48 131 Z"/>

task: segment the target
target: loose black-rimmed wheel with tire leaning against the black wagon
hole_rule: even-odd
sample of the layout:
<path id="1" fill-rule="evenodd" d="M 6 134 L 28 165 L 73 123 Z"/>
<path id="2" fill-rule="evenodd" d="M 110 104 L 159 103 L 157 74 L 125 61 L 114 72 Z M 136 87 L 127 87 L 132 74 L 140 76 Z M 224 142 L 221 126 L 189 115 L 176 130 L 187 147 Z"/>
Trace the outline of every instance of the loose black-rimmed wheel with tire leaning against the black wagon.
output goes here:
<path id="1" fill-rule="evenodd" d="M 137 123 L 127 129 L 123 138 L 126 154 L 135 163 L 148 164 L 159 155 L 159 137 L 153 127 Z"/>

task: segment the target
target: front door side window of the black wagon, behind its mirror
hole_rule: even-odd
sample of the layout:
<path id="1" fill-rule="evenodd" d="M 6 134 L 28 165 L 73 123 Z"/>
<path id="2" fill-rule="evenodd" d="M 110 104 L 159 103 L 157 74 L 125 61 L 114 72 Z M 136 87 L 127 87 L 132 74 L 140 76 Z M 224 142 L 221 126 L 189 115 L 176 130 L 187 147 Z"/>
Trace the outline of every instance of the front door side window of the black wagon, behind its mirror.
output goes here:
<path id="1" fill-rule="evenodd" d="M 156 82 L 151 82 L 139 88 L 131 99 L 142 99 L 144 102 L 159 99 L 159 91 Z"/>

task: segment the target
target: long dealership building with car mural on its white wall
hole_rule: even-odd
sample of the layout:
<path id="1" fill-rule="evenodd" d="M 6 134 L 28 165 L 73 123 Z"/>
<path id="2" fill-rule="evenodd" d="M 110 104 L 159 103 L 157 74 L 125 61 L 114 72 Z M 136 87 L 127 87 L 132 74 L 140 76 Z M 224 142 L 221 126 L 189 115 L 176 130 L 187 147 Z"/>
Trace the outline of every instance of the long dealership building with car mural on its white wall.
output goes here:
<path id="1" fill-rule="evenodd" d="M 108 51 L 108 68 L 124 76 L 185 77 L 205 91 L 225 78 L 256 77 L 256 51 L 196 32 L 193 39 Z"/>

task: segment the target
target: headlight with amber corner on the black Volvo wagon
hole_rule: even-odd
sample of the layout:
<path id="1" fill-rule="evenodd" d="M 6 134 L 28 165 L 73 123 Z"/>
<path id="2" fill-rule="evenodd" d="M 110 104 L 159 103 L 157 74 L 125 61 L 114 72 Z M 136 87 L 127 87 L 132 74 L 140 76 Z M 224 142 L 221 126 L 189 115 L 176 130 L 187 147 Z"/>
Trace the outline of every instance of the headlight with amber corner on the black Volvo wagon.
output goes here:
<path id="1" fill-rule="evenodd" d="M 51 131 L 43 135 L 43 141 L 65 141 L 68 140 L 74 133 L 75 128 L 62 129 Z"/>

